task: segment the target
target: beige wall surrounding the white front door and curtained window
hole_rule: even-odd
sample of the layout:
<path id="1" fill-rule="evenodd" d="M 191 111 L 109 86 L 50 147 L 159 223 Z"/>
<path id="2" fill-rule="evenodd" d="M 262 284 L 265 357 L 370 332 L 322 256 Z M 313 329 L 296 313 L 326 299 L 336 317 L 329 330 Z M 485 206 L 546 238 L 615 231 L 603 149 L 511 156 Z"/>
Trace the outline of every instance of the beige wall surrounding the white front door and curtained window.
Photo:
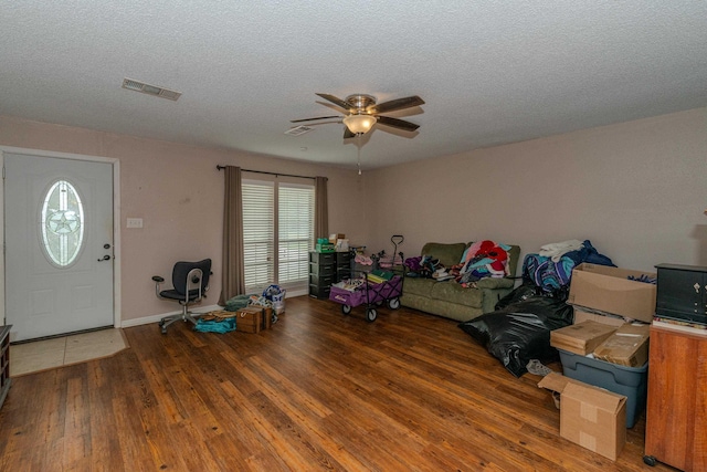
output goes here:
<path id="1" fill-rule="evenodd" d="M 352 241 L 366 240 L 360 178 L 341 170 L 292 160 L 178 145 L 0 116 L 0 145 L 44 149 L 120 161 L 122 318 L 177 310 L 155 296 L 151 276 L 171 275 L 177 260 L 212 258 L 214 279 L 207 304 L 221 292 L 223 172 L 215 166 L 328 177 L 329 224 Z M 143 229 L 126 229 L 143 218 Z M 8 268 L 11 270 L 11 268 Z"/>

